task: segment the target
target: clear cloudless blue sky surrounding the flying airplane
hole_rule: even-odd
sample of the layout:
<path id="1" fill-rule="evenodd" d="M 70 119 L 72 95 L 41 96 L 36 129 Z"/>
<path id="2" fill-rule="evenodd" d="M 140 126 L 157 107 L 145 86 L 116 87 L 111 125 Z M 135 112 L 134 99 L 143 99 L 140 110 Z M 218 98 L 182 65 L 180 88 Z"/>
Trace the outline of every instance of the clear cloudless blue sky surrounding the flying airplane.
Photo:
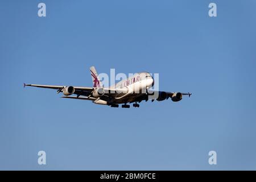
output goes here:
<path id="1" fill-rule="evenodd" d="M 255 170 L 255 7 L 253 0 L 1 1 L 0 169 Z M 159 73 L 160 90 L 193 95 L 122 109 L 23 89 L 23 82 L 91 86 L 91 65 L 98 73 Z M 37 163 L 40 150 L 46 166 Z"/>

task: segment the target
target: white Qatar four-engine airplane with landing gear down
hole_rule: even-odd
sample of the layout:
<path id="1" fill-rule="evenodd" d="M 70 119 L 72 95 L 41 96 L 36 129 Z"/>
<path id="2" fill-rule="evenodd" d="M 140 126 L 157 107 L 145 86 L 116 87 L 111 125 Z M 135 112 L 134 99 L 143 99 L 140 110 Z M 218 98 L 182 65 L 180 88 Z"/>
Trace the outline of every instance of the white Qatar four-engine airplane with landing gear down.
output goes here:
<path id="1" fill-rule="evenodd" d="M 183 96 L 191 96 L 192 93 L 181 92 L 162 92 L 149 90 L 154 85 L 154 78 L 148 72 L 136 73 L 133 76 L 119 81 L 117 84 L 104 88 L 96 69 L 90 67 L 92 76 L 92 87 L 81 86 L 56 86 L 56 85 L 34 85 L 25 84 L 25 86 L 35 86 L 39 88 L 56 89 L 57 93 L 62 92 L 62 98 L 72 98 L 76 100 L 89 100 L 94 104 L 108 105 L 110 107 L 130 108 L 127 103 L 133 103 L 134 107 L 139 107 L 138 102 L 154 100 L 163 101 L 171 98 L 172 101 L 178 102 Z M 76 96 L 71 96 L 76 95 Z"/>

